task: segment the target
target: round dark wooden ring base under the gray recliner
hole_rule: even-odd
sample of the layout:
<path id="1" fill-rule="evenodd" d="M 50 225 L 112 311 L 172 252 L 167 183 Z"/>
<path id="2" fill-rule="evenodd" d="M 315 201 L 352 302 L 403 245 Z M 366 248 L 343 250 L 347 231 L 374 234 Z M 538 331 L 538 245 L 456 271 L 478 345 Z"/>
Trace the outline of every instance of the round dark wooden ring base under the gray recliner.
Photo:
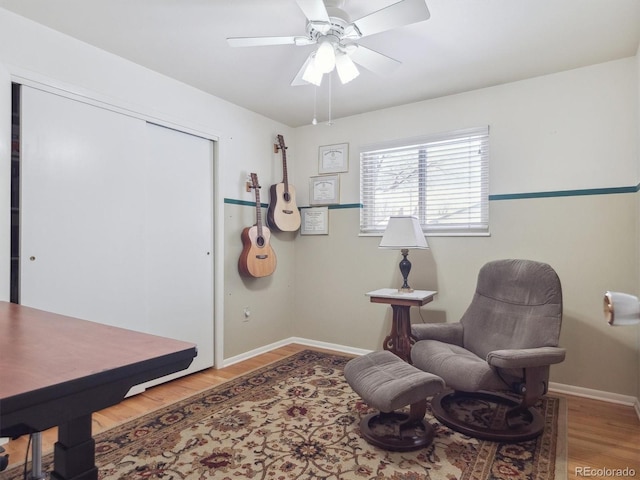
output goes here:
<path id="1" fill-rule="evenodd" d="M 447 403 L 467 399 L 484 400 L 505 405 L 510 409 L 504 418 L 498 421 L 499 425 L 496 427 L 473 425 L 456 418 L 445 406 Z M 506 443 L 524 442 L 540 436 L 544 430 L 544 419 L 538 410 L 533 407 L 522 407 L 516 400 L 498 393 L 445 390 L 431 399 L 431 410 L 434 417 L 449 428 L 482 440 Z"/>

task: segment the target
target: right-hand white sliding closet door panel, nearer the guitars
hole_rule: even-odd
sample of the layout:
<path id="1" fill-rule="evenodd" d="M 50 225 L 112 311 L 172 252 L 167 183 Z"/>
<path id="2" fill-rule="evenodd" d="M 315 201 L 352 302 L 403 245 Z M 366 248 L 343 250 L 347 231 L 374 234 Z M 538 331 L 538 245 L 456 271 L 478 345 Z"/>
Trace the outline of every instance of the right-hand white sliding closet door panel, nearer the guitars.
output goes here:
<path id="1" fill-rule="evenodd" d="M 147 125 L 147 316 L 153 333 L 197 341 L 213 365 L 213 144 Z"/>

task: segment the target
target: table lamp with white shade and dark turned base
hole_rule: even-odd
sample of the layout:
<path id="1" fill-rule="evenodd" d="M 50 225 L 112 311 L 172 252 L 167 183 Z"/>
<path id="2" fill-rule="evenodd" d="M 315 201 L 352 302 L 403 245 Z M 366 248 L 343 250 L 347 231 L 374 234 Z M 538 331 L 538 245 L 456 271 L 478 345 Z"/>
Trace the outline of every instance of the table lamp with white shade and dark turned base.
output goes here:
<path id="1" fill-rule="evenodd" d="M 400 261 L 400 273 L 404 283 L 398 289 L 398 292 L 411 293 L 413 288 L 407 283 L 409 272 L 411 271 L 411 262 L 407 259 L 409 249 L 425 249 L 429 248 L 427 239 L 424 238 L 424 232 L 420 226 L 420 222 L 416 217 L 412 216 L 392 216 L 389 217 L 387 229 L 384 231 L 382 240 L 378 248 L 387 248 L 391 250 L 400 250 L 402 260 Z"/>

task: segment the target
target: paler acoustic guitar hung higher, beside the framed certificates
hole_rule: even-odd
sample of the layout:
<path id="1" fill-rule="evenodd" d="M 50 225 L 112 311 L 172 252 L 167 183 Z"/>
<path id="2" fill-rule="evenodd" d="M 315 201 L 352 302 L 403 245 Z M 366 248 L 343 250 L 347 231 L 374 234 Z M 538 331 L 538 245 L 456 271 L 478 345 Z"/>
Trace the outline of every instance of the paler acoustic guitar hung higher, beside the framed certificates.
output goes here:
<path id="1" fill-rule="evenodd" d="M 282 152 L 284 178 L 269 189 L 271 202 L 267 210 L 267 224 L 274 230 L 295 232 L 300 228 L 300 210 L 296 205 L 296 189 L 289 184 L 287 177 L 287 147 L 282 135 L 278 135 L 278 144 L 274 146 L 276 151 Z"/>

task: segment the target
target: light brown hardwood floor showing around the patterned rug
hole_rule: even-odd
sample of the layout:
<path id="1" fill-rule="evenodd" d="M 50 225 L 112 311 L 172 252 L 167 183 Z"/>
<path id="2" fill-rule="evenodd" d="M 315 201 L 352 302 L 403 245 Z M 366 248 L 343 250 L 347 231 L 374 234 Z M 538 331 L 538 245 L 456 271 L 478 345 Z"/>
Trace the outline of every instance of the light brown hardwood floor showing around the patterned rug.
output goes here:
<path id="1" fill-rule="evenodd" d="M 153 387 L 95 413 L 93 433 L 102 432 L 307 348 L 287 345 L 223 369 L 205 370 Z M 635 410 L 598 400 L 563 396 L 567 399 L 568 409 L 567 478 L 625 478 L 616 475 L 618 472 L 615 471 L 625 468 L 635 471 L 634 476 L 626 478 L 640 478 L 640 420 Z M 56 429 L 44 432 L 42 439 L 43 452 L 52 451 L 53 443 L 57 440 Z M 10 465 L 21 463 L 27 451 L 27 437 L 12 440 L 4 447 L 10 454 Z M 599 471 L 604 469 L 608 471 Z"/>

